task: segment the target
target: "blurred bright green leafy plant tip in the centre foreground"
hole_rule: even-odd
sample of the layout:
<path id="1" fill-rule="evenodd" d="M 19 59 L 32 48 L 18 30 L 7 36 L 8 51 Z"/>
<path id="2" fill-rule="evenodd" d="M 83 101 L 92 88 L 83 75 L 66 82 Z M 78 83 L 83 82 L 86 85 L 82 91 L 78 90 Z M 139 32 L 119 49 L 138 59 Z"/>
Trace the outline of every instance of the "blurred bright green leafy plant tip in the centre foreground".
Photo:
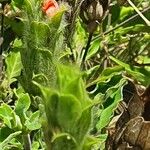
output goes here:
<path id="1" fill-rule="evenodd" d="M 58 87 L 55 89 L 36 83 L 43 94 L 47 118 L 44 132 L 49 133 L 46 142 L 47 145 L 52 143 L 48 149 L 61 149 L 65 142 L 68 143 L 65 149 L 70 149 L 70 142 L 74 143 L 72 149 L 82 149 L 91 123 L 92 102 L 77 68 L 57 65 L 56 76 Z"/>

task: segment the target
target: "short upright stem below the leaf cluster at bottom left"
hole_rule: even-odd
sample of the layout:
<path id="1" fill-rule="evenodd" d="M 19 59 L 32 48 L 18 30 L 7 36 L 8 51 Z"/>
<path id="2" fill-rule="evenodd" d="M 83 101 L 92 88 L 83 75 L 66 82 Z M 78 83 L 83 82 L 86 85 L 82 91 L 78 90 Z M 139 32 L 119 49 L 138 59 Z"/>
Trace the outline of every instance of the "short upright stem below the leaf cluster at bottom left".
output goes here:
<path id="1" fill-rule="evenodd" d="M 24 150 L 31 150 L 30 134 L 23 135 Z"/>

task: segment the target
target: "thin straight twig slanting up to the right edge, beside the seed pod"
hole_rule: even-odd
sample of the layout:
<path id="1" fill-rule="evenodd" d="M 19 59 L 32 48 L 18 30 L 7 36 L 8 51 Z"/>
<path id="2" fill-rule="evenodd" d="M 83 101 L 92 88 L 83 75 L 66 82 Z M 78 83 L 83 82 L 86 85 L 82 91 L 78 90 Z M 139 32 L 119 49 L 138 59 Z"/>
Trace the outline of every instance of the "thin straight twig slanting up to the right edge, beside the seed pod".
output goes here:
<path id="1" fill-rule="evenodd" d="M 145 13 L 145 12 L 147 12 L 147 11 L 149 11 L 149 10 L 150 10 L 150 7 L 145 8 L 145 9 L 142 10 L 141 12 L 142 12 L 142 13 Z M 106 31 L 106 32 L 104 32 L 104 33 L 102 33 L 102 34 L 96 36 L 95 38 L 93 38 L 93 41 L 96 40 L 96 39 L 98 39 L 98 38 L 101 37 L 102 35 L 107 35 L 107 34 L 113 32 L 113 31 L 115 31 L 116 29 L 120 28 L 121 26 L 125 25 L 126 23 L 128 23 L 128 22 L 134 20 L 134 19 L 137 18 L 138 16 L 139 16 L 139 14 L 135 14 L 134 16 L 130 17 L 129 19 L 127 19 L 127 20 L 125 20 L 125 21 L 123 21 L 122 23 L 120 23 L 120 24 L 117 25 L 116 27 L 112 28 L 111 30 L 108 30 L 108 31 Z"/>

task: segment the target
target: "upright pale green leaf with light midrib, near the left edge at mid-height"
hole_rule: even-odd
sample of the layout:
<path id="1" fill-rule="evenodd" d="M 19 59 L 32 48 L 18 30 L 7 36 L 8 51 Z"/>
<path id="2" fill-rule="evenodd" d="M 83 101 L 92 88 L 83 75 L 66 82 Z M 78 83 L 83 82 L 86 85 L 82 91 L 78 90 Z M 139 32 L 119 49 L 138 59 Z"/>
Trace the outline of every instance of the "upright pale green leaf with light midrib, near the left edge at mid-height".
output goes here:
<path id="1" fill-rule="evenodd" d="M 19 76 L 22 69 L 20 52 L 13 51 L 6 58 L 6 74 L 9 81 L 9 84 L 16 81 L 15 77 Z"/>

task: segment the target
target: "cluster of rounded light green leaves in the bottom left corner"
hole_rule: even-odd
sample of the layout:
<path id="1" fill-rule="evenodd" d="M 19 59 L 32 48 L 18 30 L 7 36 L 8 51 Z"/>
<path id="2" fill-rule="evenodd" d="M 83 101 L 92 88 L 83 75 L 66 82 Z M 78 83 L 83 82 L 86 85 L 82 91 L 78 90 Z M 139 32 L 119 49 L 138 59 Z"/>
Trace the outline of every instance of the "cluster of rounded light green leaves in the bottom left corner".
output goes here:
<path id="1" fill-rule="evenodd" d="M 24 134 L 41 128 L 41 122 L 39 120 L 40 112 L 30 112 L 28 110 L 30 102 L 29 95 L 22 93 L 14 109 L 5 103 L 0 106 L 0 119 L 3 124 L 0 130 L 0 134 L 2 135 L 0 136 L 1 149 L 8 147 L 10 147 L 9 149 L 12 147 L 20 149 L 19 147 L 22 141 L 18 139 L 18 136 L 23 136 Z"/>

